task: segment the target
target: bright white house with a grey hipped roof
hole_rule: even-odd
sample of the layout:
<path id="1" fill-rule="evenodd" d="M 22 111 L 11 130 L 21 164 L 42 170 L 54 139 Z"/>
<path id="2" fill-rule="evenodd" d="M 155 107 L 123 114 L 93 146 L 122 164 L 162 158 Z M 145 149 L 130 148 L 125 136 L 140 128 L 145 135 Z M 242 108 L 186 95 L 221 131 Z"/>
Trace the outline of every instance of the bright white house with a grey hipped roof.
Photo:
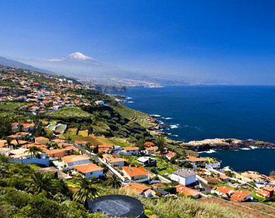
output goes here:
<path id="1" fill-rule="evenodd" d="M 188 186 L 196 182 L 195 172 L 187 168 L 179 169 L 178 171 L 173 172 L 169 177 L 184 186 Z"/>

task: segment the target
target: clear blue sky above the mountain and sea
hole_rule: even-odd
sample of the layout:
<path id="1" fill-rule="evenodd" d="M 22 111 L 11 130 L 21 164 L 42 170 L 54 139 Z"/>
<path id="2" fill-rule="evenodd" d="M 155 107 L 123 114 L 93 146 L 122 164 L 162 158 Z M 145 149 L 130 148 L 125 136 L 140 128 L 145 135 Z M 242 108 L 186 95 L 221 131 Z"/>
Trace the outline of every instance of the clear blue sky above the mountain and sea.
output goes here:
<path id="1" fill-rule="evenodd" d="M 0 55 L 275 84 L 275 1 L 0 1 Z"/>

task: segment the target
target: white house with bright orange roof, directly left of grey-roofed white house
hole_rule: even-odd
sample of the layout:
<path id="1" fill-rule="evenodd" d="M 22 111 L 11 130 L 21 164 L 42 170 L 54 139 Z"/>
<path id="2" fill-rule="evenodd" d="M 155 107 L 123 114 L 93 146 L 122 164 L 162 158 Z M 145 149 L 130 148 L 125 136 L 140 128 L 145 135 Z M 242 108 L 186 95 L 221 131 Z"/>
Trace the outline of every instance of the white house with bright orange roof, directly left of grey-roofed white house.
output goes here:
<path id="1" fill-rule="evenodd" d="M 122 172 L 125 177 L 127 177 L 130 181 L 136 180 L 149 180 L 148 171 L 146 171 L 143 167 L 135 167 L 135 166 L 122 166 Z"/>

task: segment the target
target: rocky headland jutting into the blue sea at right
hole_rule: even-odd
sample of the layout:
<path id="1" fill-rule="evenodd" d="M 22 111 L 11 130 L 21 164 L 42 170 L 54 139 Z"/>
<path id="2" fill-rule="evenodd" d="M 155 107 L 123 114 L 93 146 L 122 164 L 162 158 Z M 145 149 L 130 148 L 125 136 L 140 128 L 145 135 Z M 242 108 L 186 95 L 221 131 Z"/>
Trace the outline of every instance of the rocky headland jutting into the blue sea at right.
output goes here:
<path id="1" fill-rule="evenodd" d="M 237 140 L 237 139 L 224 139 L 224 138 L 215 138 L 215 139 L 206 139 L 201 141 L 190 141 L 187 143 L 182 143 L 181 147 L 183 149 L 190 149 L 192 151 L 207 151 L 209 149 L 241 149 L 241 148 L 250 148 L 251 146 L 259 148 L 275 148 L 275 143 L 263 142 L 263 141 L 254 141 L 254 140 Z"/>

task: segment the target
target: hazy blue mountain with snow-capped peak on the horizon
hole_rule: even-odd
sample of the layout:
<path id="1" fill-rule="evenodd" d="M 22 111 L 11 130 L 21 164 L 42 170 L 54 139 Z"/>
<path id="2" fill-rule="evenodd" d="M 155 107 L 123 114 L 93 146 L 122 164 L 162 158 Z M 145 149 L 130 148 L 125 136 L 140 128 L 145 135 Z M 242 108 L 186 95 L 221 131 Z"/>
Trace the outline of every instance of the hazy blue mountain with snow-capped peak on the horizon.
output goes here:
<path id="1" fill-rule="evenodd" d="M 146 83 L 158 83 L 159 85 L 217 85 L 227 84 L 215 78 L 199 79 L 192 77 L 172 77 L 169 74 L 166 76 L 156 76 L 157 74 L 148 74 L 144 72 L 136 72 L 135 70 L 123 69 L 108 63 L 102 63 L 96 58 L 87 56 L 82 52 L 73 52 L 61 58 L 52 58 L 50 60 L 36 59 L 17 59 L 13 61 L 4 58 L 3 65 L 21 67 L 25 69 L 35 70 L 39 72 L 54 72 L 75 79 L 104 79 L 115 80 L 120 83 L 120 80 L 135 80 Z M 7 60 L 8 59 L 8 60 Z M 20 62 L 19 62 L 20 61 Z M 1 59 L 0 59 L 1 64 Z M 33 67 L 34 66 L 34 67 Z"/>

